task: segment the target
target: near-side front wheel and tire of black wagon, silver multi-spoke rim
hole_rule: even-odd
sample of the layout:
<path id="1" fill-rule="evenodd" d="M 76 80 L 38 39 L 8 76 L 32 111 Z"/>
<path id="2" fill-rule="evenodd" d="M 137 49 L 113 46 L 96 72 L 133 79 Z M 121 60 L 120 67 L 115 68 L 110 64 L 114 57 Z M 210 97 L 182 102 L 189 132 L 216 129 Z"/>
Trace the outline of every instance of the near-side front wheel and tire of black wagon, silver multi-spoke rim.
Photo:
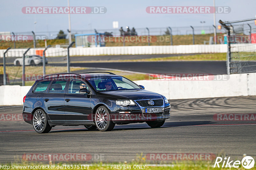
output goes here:
<path id="1" fill-rule="evenodd" d="M 110 112 L 105 106 L 100 106 L 96 110 L 94 118 L 96 127 L 100 131 L 112 131 L 115 127 Z"/>

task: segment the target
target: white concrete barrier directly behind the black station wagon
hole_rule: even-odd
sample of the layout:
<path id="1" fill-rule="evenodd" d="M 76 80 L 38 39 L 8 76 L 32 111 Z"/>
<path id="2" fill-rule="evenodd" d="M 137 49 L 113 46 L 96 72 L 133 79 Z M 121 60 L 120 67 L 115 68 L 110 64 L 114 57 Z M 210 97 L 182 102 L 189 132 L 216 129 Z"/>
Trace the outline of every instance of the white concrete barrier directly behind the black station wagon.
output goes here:
<path id="1" fill-rule="evenodd" d="M 159 79 L 134 82 L 168 99 L 256 95 L 256 73 L 218 75 L 214 78 L 219 80 L 208 80 L 201 76 L 195 80 Z M 0 86 L 0 105 L 22 105 L 23 97 L 30 88 L 31 86 Z"/>

